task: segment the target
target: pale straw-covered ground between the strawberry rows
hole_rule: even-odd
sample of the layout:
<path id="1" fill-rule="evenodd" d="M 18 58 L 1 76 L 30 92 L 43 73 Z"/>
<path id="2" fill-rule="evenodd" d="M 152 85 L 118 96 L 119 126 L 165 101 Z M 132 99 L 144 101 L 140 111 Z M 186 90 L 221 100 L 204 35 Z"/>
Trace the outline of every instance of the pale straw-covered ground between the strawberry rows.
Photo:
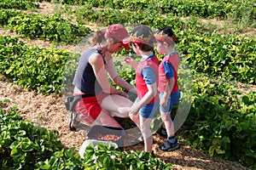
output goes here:
<path id="1" fill-rule="evenodd" d="M 40 3 L 37 11 L 40 14 L 53 14 L 54 6 L 52 3 Z M 16 36 L 4 29 L 0 29 L 2 35 Z M 40 46 L 49 48 L 52 45 L 49 42 L 41 40 L 30 40 L 20 38 L 21 41 L 27 42 L 33 46 Z M 65 48 L 72 51 L 73 46 L 61 45 L 57 48 Z M 255 87 L 254 87 L 255 89 Z M 76 147 L 79 150 L 80 146 L 86 139 L 86 129 L 79 132 L 72 132 L 69 130 L 69 114 L 64 106 L 64 97 L 61 94 L 38 94 L 35 91 L 21 88 L 12 84 L 4 77 L 0 77 L 0 100 L 10 99 L 10 103 L 3 107 L 4 111 L 9 111 L 12 107 L 18 108 L 18 113 L 25 119 L 32 123 L 45 127 L 49 131 L 57 131 L 61 143 L 67 148 Z M 236 161 L 218 160 L 200 150 L 195 150 L 183 141 L 180 142 L 181 148 L 179 150 L 163 152 L 158 149 L 159 144 L 165 142 L 165 139 L 158 135 L 154 135 L 154 154 L 156 158 L 161 161 L 172 163 L 174 169 L 248 169 L 241 166 Z M 143 150 L 143 144 L 125 146 L 124 150 L 130 152 L 131 150 Z"/>

